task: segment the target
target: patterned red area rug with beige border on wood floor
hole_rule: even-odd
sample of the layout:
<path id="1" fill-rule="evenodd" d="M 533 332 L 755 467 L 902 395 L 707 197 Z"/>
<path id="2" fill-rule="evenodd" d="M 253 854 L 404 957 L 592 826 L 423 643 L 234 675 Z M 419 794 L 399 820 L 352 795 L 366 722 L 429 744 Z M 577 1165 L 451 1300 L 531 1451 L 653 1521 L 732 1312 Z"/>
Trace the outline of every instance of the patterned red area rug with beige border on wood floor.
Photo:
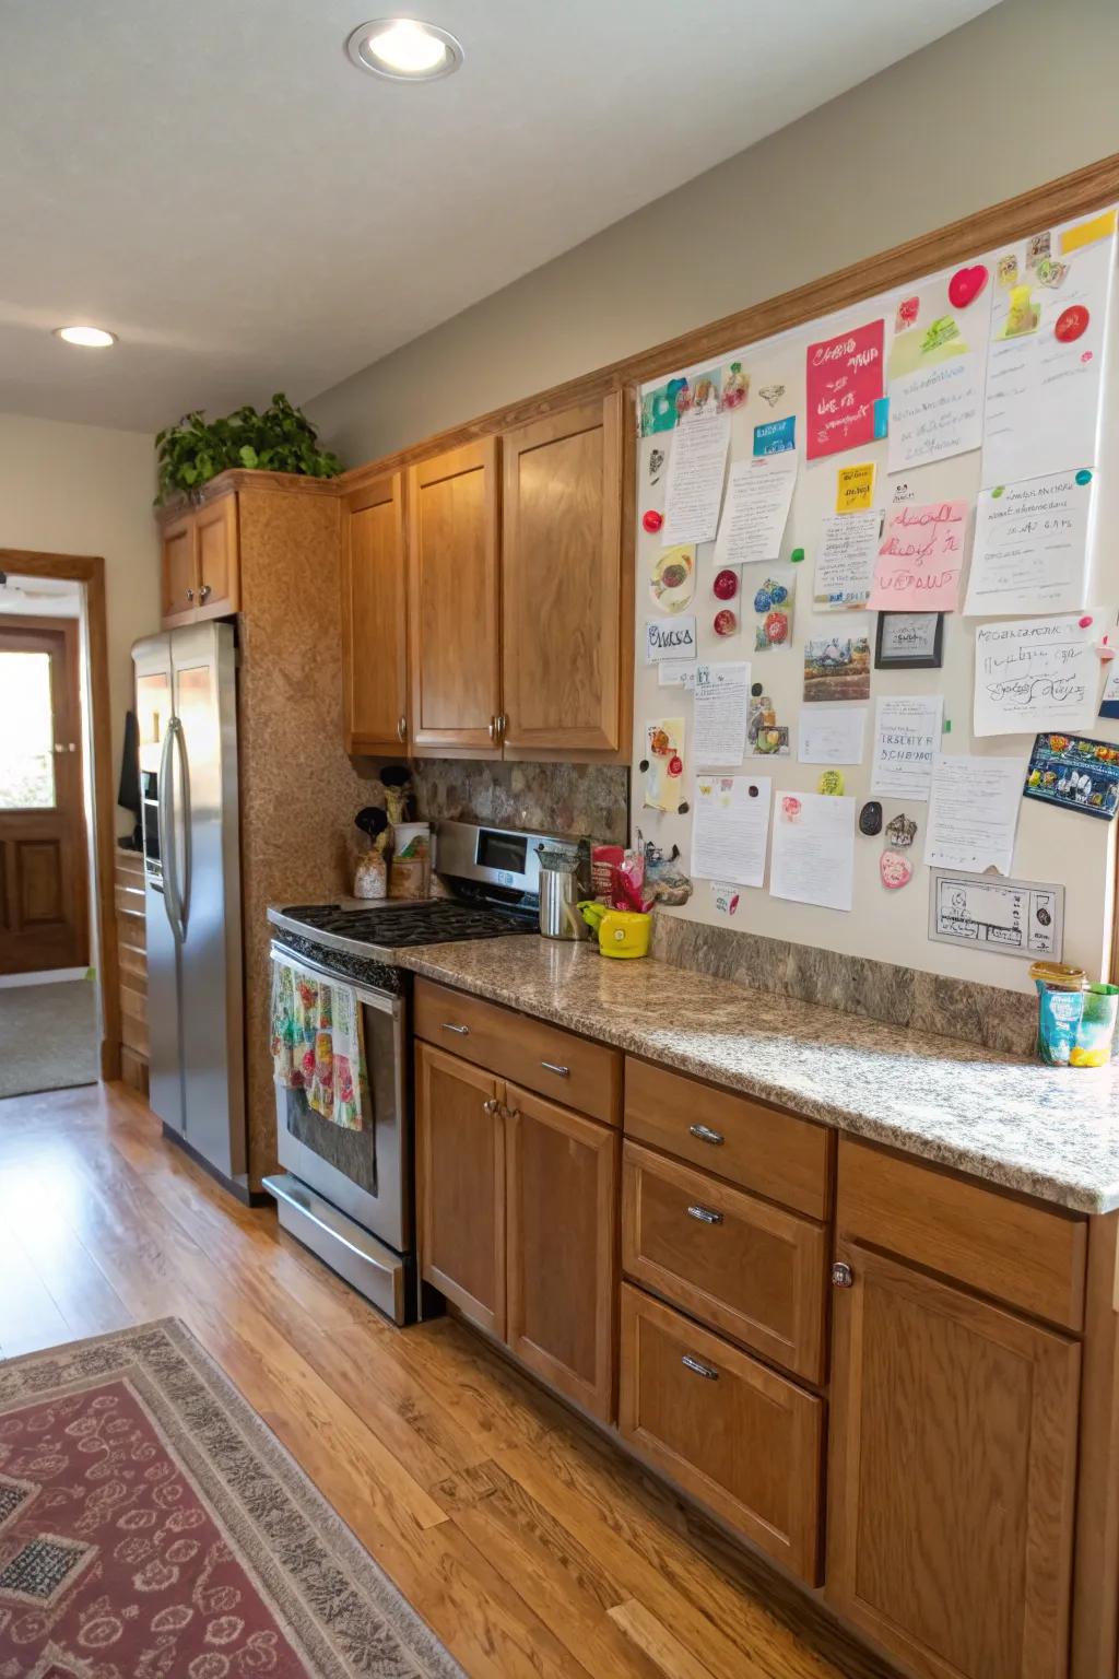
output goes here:
<path id="1" fill-rule="evenodd" d="M 174 1318 L 0 1363 L 0 1679 L 461 1679 Z"/>

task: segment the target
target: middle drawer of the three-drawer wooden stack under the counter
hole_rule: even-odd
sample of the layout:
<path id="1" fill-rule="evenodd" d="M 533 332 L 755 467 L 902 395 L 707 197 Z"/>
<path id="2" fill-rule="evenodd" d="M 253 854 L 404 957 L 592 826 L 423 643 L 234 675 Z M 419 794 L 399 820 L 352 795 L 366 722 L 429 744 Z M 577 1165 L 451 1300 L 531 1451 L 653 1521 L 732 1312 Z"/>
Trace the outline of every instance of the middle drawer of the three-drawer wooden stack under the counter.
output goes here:
<path id="1" fill-rule="evenodd" d="M 825 1226 L 626 1142 L 622 1269 L 795 1375 L 824 1380 Z"/>

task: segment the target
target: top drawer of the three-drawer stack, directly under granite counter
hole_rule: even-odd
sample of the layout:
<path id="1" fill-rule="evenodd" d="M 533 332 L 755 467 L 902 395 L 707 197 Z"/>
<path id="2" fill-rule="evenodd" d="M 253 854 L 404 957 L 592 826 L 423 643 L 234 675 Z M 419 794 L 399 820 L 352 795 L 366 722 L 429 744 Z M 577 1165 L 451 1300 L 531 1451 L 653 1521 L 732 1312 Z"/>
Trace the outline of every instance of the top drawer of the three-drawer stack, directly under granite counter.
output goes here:
<path id="1" fill-rule="evenodd" d="M 626 1056 L 626 1133 L 827 1217 L 832 1137 L 822 1125 Z"/>

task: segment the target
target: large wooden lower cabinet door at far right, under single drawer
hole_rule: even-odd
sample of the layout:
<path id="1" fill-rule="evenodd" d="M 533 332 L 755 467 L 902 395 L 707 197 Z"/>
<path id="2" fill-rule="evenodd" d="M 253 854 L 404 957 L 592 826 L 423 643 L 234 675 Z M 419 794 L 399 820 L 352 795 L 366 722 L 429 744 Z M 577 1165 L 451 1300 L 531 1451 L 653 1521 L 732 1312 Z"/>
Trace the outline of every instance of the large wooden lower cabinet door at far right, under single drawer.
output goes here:
<path id="1" fill-rule="evenodd" d="M 931 1679 L 1067 1672 L 1080 1348 L 851 1242 L 827 1597 Z"/>

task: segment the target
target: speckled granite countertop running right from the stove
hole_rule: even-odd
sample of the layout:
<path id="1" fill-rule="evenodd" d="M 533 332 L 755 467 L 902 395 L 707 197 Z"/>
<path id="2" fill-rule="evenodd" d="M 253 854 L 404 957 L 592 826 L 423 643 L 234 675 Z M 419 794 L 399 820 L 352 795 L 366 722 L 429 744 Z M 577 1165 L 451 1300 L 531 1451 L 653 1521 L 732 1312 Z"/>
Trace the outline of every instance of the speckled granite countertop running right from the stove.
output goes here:
<path id="1" fill-rule="evenodd" d="M 535 934 L 396 960 L 460 991 L 1079 1212 L 1119 1207 L 1119 1071 L 1049 1068 Z"/>

